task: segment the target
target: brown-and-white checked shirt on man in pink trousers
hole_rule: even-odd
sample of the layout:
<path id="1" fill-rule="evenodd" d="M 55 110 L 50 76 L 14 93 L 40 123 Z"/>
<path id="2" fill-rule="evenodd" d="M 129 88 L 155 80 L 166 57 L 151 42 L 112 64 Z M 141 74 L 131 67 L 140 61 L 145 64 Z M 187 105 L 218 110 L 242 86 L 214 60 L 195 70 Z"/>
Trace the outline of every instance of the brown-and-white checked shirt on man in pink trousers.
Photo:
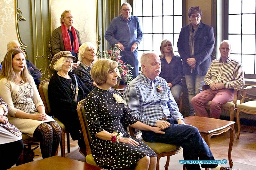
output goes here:
<path id="1" fill-rule="evenodd" d="M 204 82 L 210 85 L 213 82 L 224 83 L 225 89 L 234 89 L 236 86 L 244 85 L 244 71 L 242 64 L 228 57 L 223 63 L 221 57 L 212 61 Z"/>

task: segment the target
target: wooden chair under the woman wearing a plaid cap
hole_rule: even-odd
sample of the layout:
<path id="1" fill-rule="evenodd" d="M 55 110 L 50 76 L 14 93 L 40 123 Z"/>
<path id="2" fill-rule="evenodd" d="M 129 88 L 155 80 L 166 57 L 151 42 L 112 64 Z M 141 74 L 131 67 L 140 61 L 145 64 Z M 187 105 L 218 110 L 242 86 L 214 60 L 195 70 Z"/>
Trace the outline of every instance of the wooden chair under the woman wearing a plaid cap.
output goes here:
<path id="1" fill-rule="evenodd" d="M 44 107 L 45 107 L 45 113 L 48 115 L 51 112 L 50 103 L 48 99 L 48 85 L 49 85 L 50 79 L 43 80 L 40 82 L 38 90 L 41 96 L 41 99 L 43 100 Z M 69 143 L 69 132 L 67 131 L 65 125 L 59 121 L 56 117 L 53 118 L 61 128 L 61 139 L 60 139 L 60 151 L 61 151 L 61 157 L 65 157 L 65 134 L 67 134 L 67 149 L 68 153 L 70 152 L 70 143 Z M 58 153 L 58 150 L 57 150 Z"/>

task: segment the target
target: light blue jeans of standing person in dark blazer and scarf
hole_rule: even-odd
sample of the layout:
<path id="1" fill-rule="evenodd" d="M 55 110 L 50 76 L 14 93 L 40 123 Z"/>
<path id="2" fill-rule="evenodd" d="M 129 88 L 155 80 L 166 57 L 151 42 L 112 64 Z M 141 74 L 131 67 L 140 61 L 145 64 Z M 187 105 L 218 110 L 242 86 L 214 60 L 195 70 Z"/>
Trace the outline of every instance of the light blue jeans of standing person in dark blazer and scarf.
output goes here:
<path id="1" fill-rule="evenodd" d="M 188 89 L 188 102 L 189 102 L 189 115 L 194 115 L 195 110 L 191 104 L 191 99 L 195 97 L 198 93 L 202 92 L 202 86 L 204 83 L 204 76 L 200 76 L 196 73 L 196 71 L 193 72 L 191 75 L 186 75 L 186 85 Z"/>

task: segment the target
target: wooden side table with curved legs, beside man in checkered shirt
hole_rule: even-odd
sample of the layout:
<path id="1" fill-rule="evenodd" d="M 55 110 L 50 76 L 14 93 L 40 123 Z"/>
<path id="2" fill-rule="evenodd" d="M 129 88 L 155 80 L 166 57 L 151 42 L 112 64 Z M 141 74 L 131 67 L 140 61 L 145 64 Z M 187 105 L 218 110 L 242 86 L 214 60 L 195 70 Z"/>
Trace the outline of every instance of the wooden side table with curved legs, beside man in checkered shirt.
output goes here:
<path id="1" fill-rule="evenodd" d="M 224 132 L 230 131 L 230 140 L 228 146 L 228 162 L 229 167 L 233 167 L 233 161 L 231 159 L 231 151 L 234 143 L 235 129 L 233 121 L 225 121 L 220 119 L 213 119 L 209 117 L 188 116 L 183 118 L 186 124 L 195 126 L 198 128 L 200 134 L 204 138 L 206 144 L 211 148 L 211 137 L 214 135 L 220 135 Z"/>

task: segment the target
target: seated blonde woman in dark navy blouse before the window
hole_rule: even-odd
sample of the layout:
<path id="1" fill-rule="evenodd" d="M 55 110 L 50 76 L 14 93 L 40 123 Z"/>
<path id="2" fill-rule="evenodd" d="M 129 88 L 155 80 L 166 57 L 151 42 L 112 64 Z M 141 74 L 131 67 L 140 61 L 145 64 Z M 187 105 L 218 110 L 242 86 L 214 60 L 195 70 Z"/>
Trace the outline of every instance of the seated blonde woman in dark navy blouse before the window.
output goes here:
<path id="1" fill-rule="evenodd" d="M 178 104 L 181 87 L 181 78 L 183 76 L 182 61 L 180 56 L 174 55 L 172 50 L 172 43 L 170 40 L 163 40 L 160 46 L 160 59 L 162 70 L 159 74 L 164 78 L 172 92 L 172 96 Z"/>

